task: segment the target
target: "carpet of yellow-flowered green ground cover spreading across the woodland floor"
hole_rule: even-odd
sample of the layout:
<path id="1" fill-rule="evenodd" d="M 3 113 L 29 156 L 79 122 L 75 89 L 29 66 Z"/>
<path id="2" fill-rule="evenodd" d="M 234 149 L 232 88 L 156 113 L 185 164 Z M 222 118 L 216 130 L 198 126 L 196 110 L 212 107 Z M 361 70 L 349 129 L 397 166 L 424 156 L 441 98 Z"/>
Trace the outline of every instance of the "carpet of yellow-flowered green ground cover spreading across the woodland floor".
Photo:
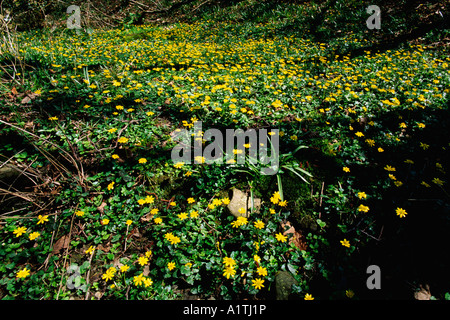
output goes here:
<path id="1" fill-rule="evenodd" d="M 290 298 L 447 298 L 448 30 L 383 50 L 366 4 L 313 30 L 321 4 L 5 38 L 0 297 L 275 299 L 287 272 Z M 197 121 L 278 129 L 278 174 L 174 163 Z"/>

